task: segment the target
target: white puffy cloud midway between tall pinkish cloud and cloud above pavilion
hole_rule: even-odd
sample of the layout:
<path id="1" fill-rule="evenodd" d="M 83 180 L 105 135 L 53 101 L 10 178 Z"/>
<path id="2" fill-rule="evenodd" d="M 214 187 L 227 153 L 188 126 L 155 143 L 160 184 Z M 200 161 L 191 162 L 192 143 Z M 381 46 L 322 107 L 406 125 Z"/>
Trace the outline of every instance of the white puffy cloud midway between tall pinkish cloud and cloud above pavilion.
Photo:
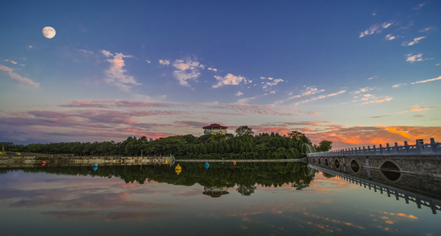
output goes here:
<path id="1" fill-rule="evenodd" d="M 164 64 L 165 65 L 165 64 Z M 173 72 L 174 78 L 179 81 L 180 85 L 189 86 L 187 80 L 195 80 L 201 73 L 199 69 L 204 69 L 205 65 L 202 65 L 198 61 L 193 61 L 190 58 L 183 60 L 176 60 L 173 66 L 177 69 Z"/>

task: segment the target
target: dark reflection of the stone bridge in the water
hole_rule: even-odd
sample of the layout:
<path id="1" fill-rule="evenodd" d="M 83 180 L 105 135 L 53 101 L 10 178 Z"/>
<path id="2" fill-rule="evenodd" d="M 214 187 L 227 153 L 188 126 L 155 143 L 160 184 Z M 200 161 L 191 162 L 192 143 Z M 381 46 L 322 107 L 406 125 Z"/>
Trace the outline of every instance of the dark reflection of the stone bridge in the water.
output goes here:
<path id="1" fill-rule="evenodd" d="M 396 172 L 382 173 L 384 171 L 372 170 L 354 171 L 357 172 L 357 174 L 348 174 L 332 169 L 317 167 L 313 164 L 308 164 L 308 167 L 324 173 L 329 173 L 343 180 L 347 180 L 348 182 L 352 182 L 353 184 L 360 184 L 360 186 L 365 186 L 365 188 L 369 188 L 369 190 L 373 190 L 376 193 L 378 191 L 381 194 L 387 193 L 388 197 L 395 196 L 396 200 L 400 200 L 400 198 L 402 198 L 406 204 L 409 204 L 409 201 L 415 202 L 418 208 L 421 208 L 421 206 L 427 206 L 431 208 L 433 214 L 436 214 L 436 211 L 441 211 L 441 184 L 440 180 L 436 180 L 435 178 L 427 178 L 419 175 L 407 175 Z M 344 168 L 343 171 L 346 172 L 346 168 Z M 371 178 L 373 176 L 381 176 L 379 174 L 384 176 L 385 179 Z M 369 176 L 369 180 L 362 178 L 362 176 Z M 393 176 L 398 176 L 398 178 L 389 179 Z M 412 179 L 412 181 L 407 181 L 409 179 Z M 385 182 L 387 184 L 385 184 Z"/>

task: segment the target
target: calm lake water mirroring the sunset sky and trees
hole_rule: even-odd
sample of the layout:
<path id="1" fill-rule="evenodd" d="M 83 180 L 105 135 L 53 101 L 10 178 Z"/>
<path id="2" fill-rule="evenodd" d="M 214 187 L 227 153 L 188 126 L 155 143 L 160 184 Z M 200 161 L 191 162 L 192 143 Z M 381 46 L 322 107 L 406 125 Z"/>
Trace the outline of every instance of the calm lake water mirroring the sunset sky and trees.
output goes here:
<path id="1" fill-rule="evenodd" d="M 441 232 L 441 211 L 433 214 L 307 164 L 180 164 L 179 175 L 171 166 L 1 169 L 0 235 Z M 398 185 L 414 178 L 404 176 Z M 425 186 L 408 184 L 406 190 L 440 200 L 439 180 L 418 182 Z"/>

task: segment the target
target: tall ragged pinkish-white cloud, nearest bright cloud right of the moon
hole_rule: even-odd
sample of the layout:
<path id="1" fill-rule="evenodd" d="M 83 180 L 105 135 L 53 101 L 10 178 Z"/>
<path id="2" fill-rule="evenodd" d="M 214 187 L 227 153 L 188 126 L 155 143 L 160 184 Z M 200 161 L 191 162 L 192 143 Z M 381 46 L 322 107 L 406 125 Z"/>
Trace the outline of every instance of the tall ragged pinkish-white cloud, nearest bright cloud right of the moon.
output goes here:
<path id="1" fill-rule="evenodd" d="M 113 56 L 113 54 L 107 51 L 103 52 L 103 54 L 105 54 L 106 56 Z M 141 83 L 136 83 L 136 80 L 133 76 L 125 74 L 125 72 L 127 72 L 127 70 L 123 69 L 123 67 L 125 66 L 123 58 L 125 57 L 131 58 L 132 56 L 123 55 L 122 53 L 116 53 L 114 54 L 113 59 L 107 59 L 107 61 L 110 62 L 111 65 L 109 69 L 104 71 L 107 76 L 104 81 L 127 90 L 128 88 L 130 88 L 130 86 L 128 86 L 127 84 L 141 85 Z"/>

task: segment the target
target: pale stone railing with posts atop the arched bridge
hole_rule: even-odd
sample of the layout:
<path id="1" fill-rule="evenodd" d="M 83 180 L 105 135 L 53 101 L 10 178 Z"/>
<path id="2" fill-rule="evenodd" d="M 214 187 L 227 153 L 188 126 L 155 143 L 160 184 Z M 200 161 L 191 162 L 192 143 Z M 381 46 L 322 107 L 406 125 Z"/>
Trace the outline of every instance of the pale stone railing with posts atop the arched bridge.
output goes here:
<path id="1" fill-rule="evenodd" d="M 416 144 L 409 145 L 407 141 L 404 141 L 404 146 L 398 146 L 398 143 L 395 143 L 395 146 L 389 146 L 389 143 L 386 144 L 386 147 L 375 147 L 373 148 L 367 146 L 367 149 L 363 147 L 358 147 L 353 149 L 339 149 L 333 151 L 323 151 L 319 153 L 307 153 L 307 156 L 342 156 L 342 155 L 414 155 L 414 154 L 441 154 L 441 142 L 435 142 L 434 138 L 430 139 L 430 143 L 421 143 L 422 140 L 416 140 Z"/>

